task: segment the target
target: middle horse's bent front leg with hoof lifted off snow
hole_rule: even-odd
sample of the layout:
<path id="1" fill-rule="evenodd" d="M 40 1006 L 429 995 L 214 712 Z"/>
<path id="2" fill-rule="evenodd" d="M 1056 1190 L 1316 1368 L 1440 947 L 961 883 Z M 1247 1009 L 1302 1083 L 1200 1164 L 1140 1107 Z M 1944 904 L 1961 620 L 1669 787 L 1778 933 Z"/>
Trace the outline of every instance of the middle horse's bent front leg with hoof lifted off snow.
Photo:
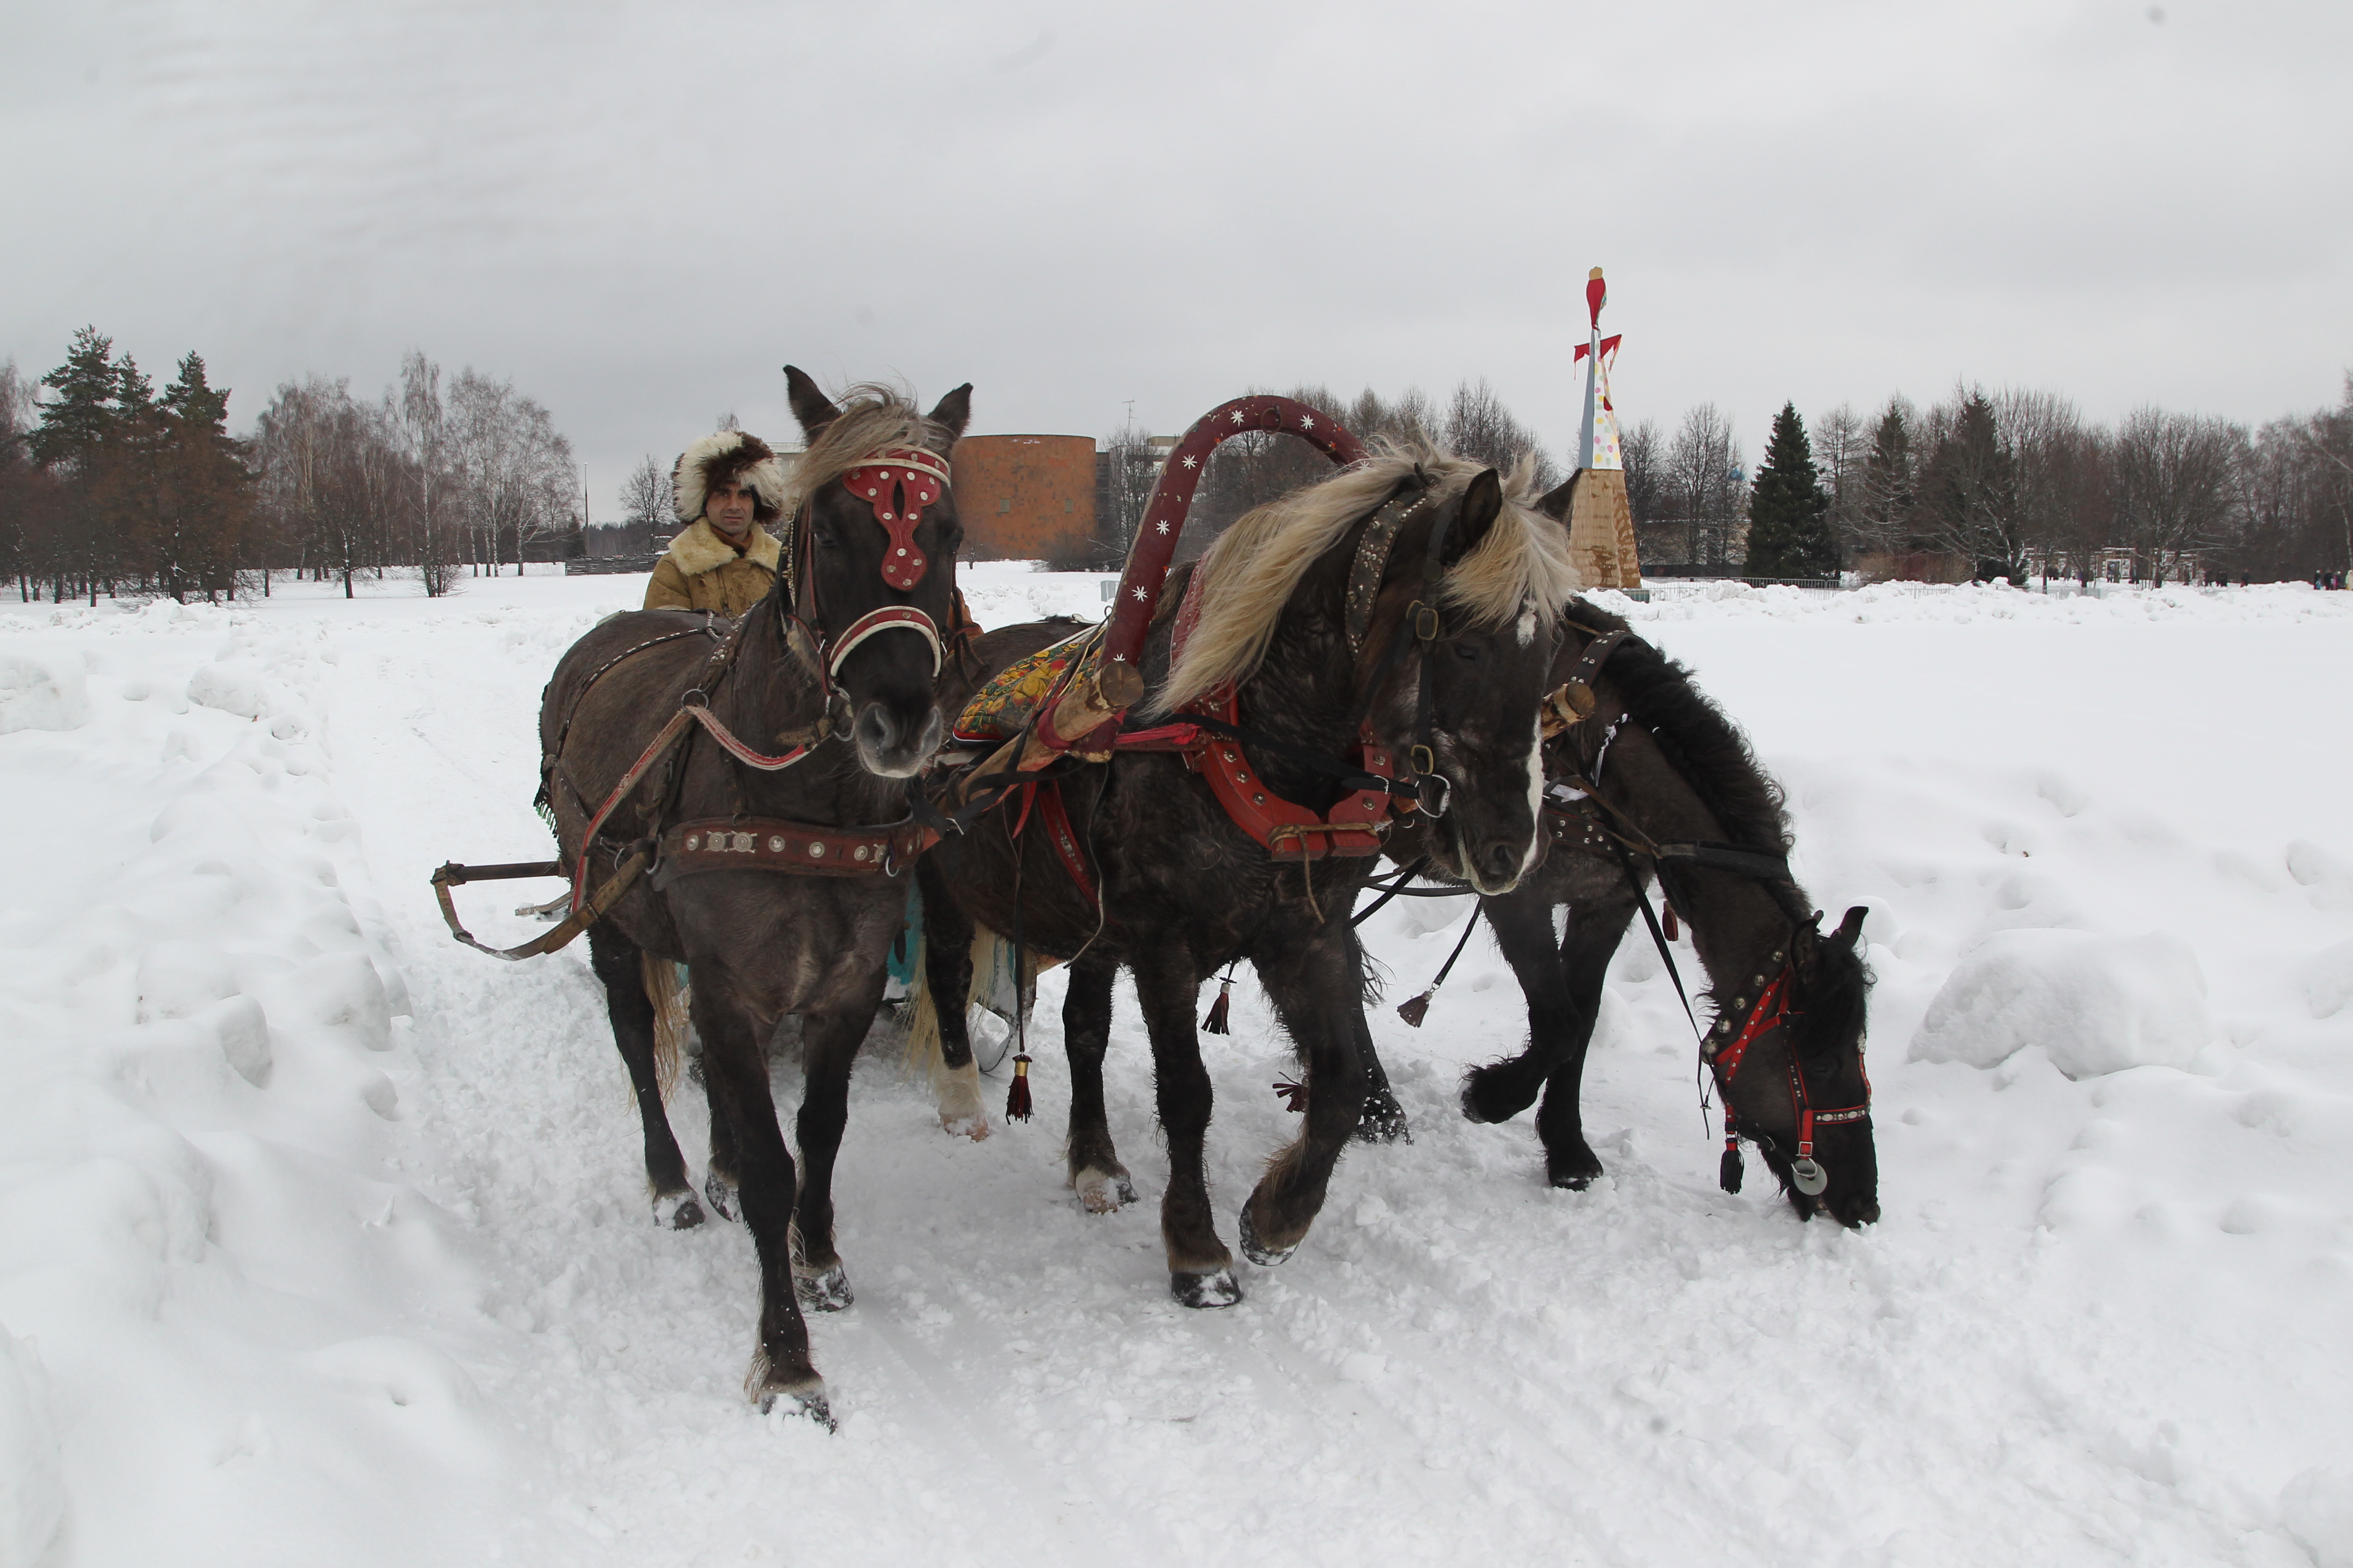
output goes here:
<path id="1" fill-rule="evenodd" d="M 1325 1187 L 1365 1117 L 1365 980 L 1353 933 L 1318 933 L 1278 959 L 1259 959 L 1259 985 L 1299 1044 L 1308 1110 L 1297 1143 L 1268 1161 L 1242 1204 L 1242 1255 L 1278 1265 L 1306 1239 Z"/>

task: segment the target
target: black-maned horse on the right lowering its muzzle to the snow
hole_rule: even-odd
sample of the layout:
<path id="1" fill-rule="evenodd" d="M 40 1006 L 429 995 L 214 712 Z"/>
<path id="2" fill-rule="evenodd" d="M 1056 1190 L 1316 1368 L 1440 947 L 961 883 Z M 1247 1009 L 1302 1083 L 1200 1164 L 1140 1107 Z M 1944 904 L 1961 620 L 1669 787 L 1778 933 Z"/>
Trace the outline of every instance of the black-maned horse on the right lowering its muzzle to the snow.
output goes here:
<path id="1" fill-rule="evenodd" d="M 1638 910 L 1635 879 L 1640 886 L 1659 879 L 1689 922 L 1708 973 L 1715 1011 L 1708 1065 L 1732 1126 L 1758 1145 L 1800 1218 L 1819 1211 L 1842 1225 L 1878 1220 L 1868 1114 L 1821 1121 L 1824 1112 L 1871 1100 L 1868 976 L 1854 950 L 1864 912 L 1849 910 L 1831 933 L 1819 929 L 1819 914 L 1788 877 L 1781 790 L 1682 665 L 1624 635 L 1621 618 L 1584 599 L 1569 604 L 1562 632 L 1553 682 L 1577 672 L 1595 637 L 1619 637 L 1586 684 L 1591 712 L 1544 745 L 1551 853 L 1508 893 L 1480 898 L 1480 914 L 1527 992 L 1529 1044 L 1464 1079 L 1464 1114 L 1506 1121 L 1541 1091 L 1537 1135 L 1551 1182 L 1584 1187 L 1602 1173 L 1579 1107 L 1586 1046 L 1602 973 Z M 1414 825 L 1391 839 L 1400 860 L 1426 849 Z M 1433 867 L 1445 877 L 1442 858 Z M 1569 924 L 1555 938 L 1553 910 L 1562 905 Z M 1729 1046 L 1744 1034 L 1732 1058 Z M 1817 1112 L 1812 1128 L 1800 1126 L 1807 1107 Z M 1812 1147 L 1800 1147 L 1802 1131 L 1812 1131 Z M 1800 1157 L 1819 1171 L 1793 1171 Z M 1727 1150 L 1727 1185 L 1737 1171 Z"/>

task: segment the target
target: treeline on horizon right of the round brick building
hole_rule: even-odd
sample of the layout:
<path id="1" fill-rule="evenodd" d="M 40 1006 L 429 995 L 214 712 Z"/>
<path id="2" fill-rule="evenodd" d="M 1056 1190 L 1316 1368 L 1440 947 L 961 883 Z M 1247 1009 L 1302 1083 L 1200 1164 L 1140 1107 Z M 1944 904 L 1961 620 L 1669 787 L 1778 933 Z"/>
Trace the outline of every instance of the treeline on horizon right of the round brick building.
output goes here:
<path id="1" fill-rule="evenodd" d="M 1360 440 L 1428 442 L 1497 468 L 1527 454 L 1539 489 L 1565 473 L 1485 381 L 1447 402 L 1320 386 L 1285 395 L 1329 409 Z M 1101 444 L 1113 458 L 1106 550 L 1125 550 L 1158 451 L 1134 425 Z M 2158 407 L 2111 428 L 2057 393 L 1960 386 L 1927 409 L 1901 395 L 1873 414 L 1840 404 L 1812 430 L 1784 407 L 1755 473 L 1715 404 L 1689 409 L 1673 433 L 1633 421 L 1621 444 L 1645 567 L 2014 583 L 2035 571 L 2089 581 L 2111 564 L 2129 581 L 2294 581 L 2353 567 L 2353 374 L 2339 407 L 2259 428 Z M 1186 550 L 1325 473 L 1322 454 L 1289 437 L 1226 442 L 1195 494 Z"/>

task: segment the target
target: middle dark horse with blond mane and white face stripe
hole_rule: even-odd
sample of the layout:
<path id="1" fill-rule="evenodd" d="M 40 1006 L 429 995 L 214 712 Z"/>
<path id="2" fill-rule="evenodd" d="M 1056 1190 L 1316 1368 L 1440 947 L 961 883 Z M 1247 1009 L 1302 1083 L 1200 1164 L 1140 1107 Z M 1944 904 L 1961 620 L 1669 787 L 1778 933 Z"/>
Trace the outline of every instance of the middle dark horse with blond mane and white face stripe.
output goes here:
<path id="1" fill-rule="evenodd" d="M 1412 505 L 1426 501 L 1424 505 Z M 1553 498 L 1548 498 L 1553 501 Z M 1400 512 L 1384 512 L 1398 503 Z M 1235 691 L 1238 741 L 1259 780 L 1318 813 L 1346 797 L 1332 769 L 1369 717 L 1379 748 L 1428 745 L 1445 780 L 1433 856 L 1485 891 L 1511 889 L 1537 856 L 1537 717 L 1569 567 L 1558 520 L 1494 470 L 1457 458 L 1381 456 L 1233 524 L 1198 564 L 1200 621 L 1172 658 L 1172 621 L 1146 644 L 1144 672 L 1165 717 Z M 1395 522 L 1362 599 L 1369 628 L 1351 646 L 1348 588 L 1377 512 Z M 1384 522 L 1384 529 L 1388 522 Z M 1442 571 L 1435 616 L 1407 611 Z M 1162 607 L 1191 581 L 1172 578 Z M 1419 628 L 1419 635 L 1417 635 Z M 1407 639 L 1407 642 L 1400 642 Z M 1000 646 L 1035 639 L 1007 632 Z M 1398 656 L 1391 649 L 1398 649 Z M 1009 654 L 1007 654 L 1009 658 Z M 1214 766 L 1224 748 L 1202 757 Z M 1233 1255 L 1209 1213 L 1202 1143 L 1209 1074 L 1195 1037 L 1200 983 L 1249 959 L 1304 1065 L 1306 1117 L 1240 1215 L 1242 1251 L 1282 1262 L 1322 1206 L 1332 1168 L 1367 1095 L 1369 1032 L 1362 957 L 1348 907 L 1374 858 L 1271 853 L 1172 752 L 1120 752 L 1108 764 L 1056 764 L 1054 780 L 1096 896 L 1066 870 L 1052 832 L 1012 837 L 998 809 L 922 863 L 925 969 L 944 1053 L 960 1063 L 972 922 L 1071 961 L 1064 1041 L 1073 1103 L 1068 1171 L 1094 1208 L 1129 1194 L 1104 1117 L 1101 1053 L 1111 983 L 1129 969 L 1153 1041 L 1169 1190 L 1160 1204 L 1169 1286 L 1188 1307 L 1240 1300 Z"/>

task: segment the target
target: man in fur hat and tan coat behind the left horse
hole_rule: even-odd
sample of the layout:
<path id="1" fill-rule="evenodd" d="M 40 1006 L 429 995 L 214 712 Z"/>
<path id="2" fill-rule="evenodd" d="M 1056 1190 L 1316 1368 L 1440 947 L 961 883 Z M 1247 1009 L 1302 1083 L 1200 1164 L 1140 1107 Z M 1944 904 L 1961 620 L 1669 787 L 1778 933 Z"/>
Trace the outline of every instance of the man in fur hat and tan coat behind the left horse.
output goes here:
<path id="1" fill-rule="evenodd" d="M 689 527 L 654 562 L 645 607 L 741 621 L 776 583 L 781 550 L 762 524 L 784 512 L 784 463 L 758 435 L 706 435 L 671 468 L 671 505 Z"/>

